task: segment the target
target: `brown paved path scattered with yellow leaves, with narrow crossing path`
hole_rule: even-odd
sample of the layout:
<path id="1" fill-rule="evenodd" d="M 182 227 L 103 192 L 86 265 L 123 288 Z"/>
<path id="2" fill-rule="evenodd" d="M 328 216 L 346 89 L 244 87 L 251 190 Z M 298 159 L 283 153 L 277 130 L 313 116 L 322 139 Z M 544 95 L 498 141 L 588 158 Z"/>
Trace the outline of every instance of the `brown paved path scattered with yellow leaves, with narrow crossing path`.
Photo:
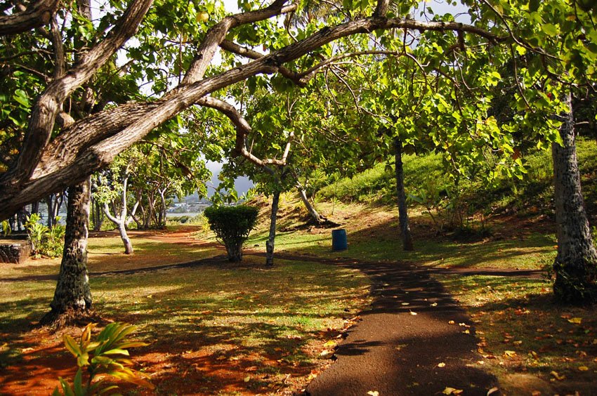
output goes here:
<path id="1" fill-rule="evenodd" d="M 252 253 L 261 255 L 261 253 Z M 483 370 L 470 318 L 433 272 L 405 263 L 322 260 L 278 254 L 286 260 L 312 260 L 358 268 L 373 282 L 374 302 L 335 351 L 336 362 L 308 385 L 308 395 L 438 395 L 450 387 L 464 395 L 487 395 L 497 386 Z M 461 272 L 461 271 L 456 271 Z M 473 272 L 473 271 L 468 271 Z M 492 275 L 534 276 L 528 271 Z"/>

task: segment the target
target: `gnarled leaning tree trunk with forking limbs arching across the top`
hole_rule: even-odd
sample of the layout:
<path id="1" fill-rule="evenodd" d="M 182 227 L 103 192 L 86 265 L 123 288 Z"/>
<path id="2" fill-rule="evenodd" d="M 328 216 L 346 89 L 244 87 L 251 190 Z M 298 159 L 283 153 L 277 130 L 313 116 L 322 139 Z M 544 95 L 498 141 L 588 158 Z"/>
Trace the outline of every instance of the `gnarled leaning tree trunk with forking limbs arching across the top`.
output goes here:
<path id="1" fill-rule="evenodd" d="M 186 58 L 185 61 L 189 62 L 188 66 L 184 67 L 184 72 L 181 69 L 184 77 L 180 79 L 180 84 L 176 88 L 166 93 L 162 92 L 159 100 L 138 100 L 122 105 L 112 102 L 114 106 L 110 109 L 84 117 L 54 137 L 52 131 L 55 120 L 59 114 L 65 113 L 62 109 L 65 100 L 97 75 L 103 67 L 109 65 L 117 50 L 140 28 L 141 21 L 151 6 L 151 0 L 136 0 L 126 8 L 122 16 L 114 18 L 115 15 L 112 13 L 103 18 L 100 28 L 110 26 L 112 29 L 107 34 L 99 31 L 91 32 L 92 36 L 96 37 L 97 44 L 93 44 L 88 51 L 81 54 L 76 63 L 67 67 L 65 74 L 53 79 L 32 105 L 22 148 L 13 164 L 0 177 L 0 218 L 6 218 L 24 202 L 39 200 L 49 192 L 60 190 L 73 181 L 84 180 L 86 176 L 110 163 L 119 152 L 136 143 L 156 126 L 175 117 L 188 107 L 195 104 L 213 105 L 210 93 L 262 73 L 279 71 L 283 75 L 297 79 L 300 77 L 300 72 L 292 72 L 283 67 L 284 63 L 298 60 L 342 37 L 372 32 L 376 29 L 406 28 L 470 32 L 480 34 L 489 40 L 497 39 L 494 34 L 471 25 L 452 22 L 419 22 L 388 17 L 386 16 L 387 1 L 380 1 L 373 12 L 371 11 L 373 7 L 366 7 L 365 11 L 372 13 L 370 17 L 354 18 L 348 12 L 350 18 L 346 22 L 341 22 L 345 19 L 344 16 L 330 20 L 329 26 L 312 34 L 309 33 L 304 36 L 305 39 L 291 44 L 284 44 L 284 39 L 275 34 L 268 35 L 271 40 L 276 41 L 276 43 L 266 43 L 268 46 L 271 44 L 270 48 L 276 48 L 268 55 L 252 60 L 243 67 L 233 67 L 223 72 L 214 70 L 214 74 L 206 77 L 205 72 L 208 70 L 209 62 L 214 58 L 218 47 L 226 47 L 229 43 L 225 40 L 228 32 L 233 33 L 229 37 L 237 37 L 240 41 L 254 42 L 251 40 L 255 39 L 260 41 L 261 37 L 250 34 L 250 32 L 256 32 L 255 24 L 264 29 L 277 31 L 275 23 L 260 21 L 296 10 L 296 5 L 287 6 L 284 0 L 277 0 L 263 9 L 225 17 L 211 26 L 205 34 L 201 34 L 197 29 L 196 21 L 190 22 L 188 25 L 192 30 L 190 33 L 197 34 L 193 37 L 193 39 L 197 38 L 197 41 L 193 41 L 192 46 L 195 56 L 192 60 Z M 249 5 L 245 5 L 247 6 Z M 188 16 L 185 15 L 185 18 L 189 20 L 196 14 L 197 11 L 194 10 Z M 339 22 L 337 25 L 336 21 Z M 158 29 L 158 21 L 155 18 L 147 20 L 147 23 L 148 25 L 143 25 L 140 29 L 140 34 L 147 34 L 146 29 Z M 161 23 L 162 31 L 170 26 L 164 21 Z M 314 23 L 310 29 L 315 26 Z M 280 34 L 282 32 L 284 31 L 281 30 Z M 284 37 L 288 37 L 287 34 L 284 34 Z M 129 51 L 129 53 L 132 52 Z M 310 58 L 309 62 L 313 64 L 315 59 Z M 216 107 L 221 108 L 217 104 Z"/>

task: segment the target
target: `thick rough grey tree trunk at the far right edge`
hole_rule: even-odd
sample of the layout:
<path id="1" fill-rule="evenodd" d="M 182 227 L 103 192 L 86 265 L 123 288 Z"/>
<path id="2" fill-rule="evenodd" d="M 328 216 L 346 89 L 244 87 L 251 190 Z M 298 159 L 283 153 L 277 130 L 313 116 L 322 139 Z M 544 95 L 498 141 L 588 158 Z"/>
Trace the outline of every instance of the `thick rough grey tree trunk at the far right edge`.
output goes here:
<path id="1" fill-rule="evenodd" d="M 563 145 L 551 145 L 558 235 L 553 293 L 561 301 L 589 303 L 597 300 L 597 252 L 581 193 L 570 95 L 567 99 L 570 112 L 560 127 Z"/>

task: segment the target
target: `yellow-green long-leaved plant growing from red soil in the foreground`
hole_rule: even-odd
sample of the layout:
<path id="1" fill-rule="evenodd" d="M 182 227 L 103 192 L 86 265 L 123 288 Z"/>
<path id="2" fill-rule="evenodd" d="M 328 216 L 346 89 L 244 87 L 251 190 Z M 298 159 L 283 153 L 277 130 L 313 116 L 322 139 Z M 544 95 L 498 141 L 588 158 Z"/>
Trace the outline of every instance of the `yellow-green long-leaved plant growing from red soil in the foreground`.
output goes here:
<path id="1" fill-rule="evenodd" d="M 93 382 L 96 376 L 100 374 L 109 375 L 114 378 L 122 379 L 136 385 L 144 386 L 146 388 L 153 389 L 154 386 L 141 378 L 145 374 L 139 371 L 131 369 L 133 362 L 126 357 L 129 356 L 127 348 L 134 348 L 138 346 L 147 345 L 139 341 L 126 340 L 126 336 L 133 333 L 137 329 L 137 326 L 122 323 L 111 323 L 105 326 L 98 339 L 95 342 L 91 342 L 91 329 L 95 324 L 88 324 L 83 334 L 81 335 L 81 341 L 77 343 L 74 338 L 68 334 L 64 335 L 65 348 L 69 352 L 77 357 L 77 374 L 74 375 L 73 385 L 67 383 L 63 378 L 59 378 L 60 388 L 55 388 L 53 395 L 65 395 L 65 396 L 84 396 L 84 395 L 101 395 L 109 390 L 117 388 L 116 385 L 110 385 L 106 388 L 100 389 L 103 385 L 103 379 Z M 117 357 L 112 357 L 116 355 Z M 84 385 L 83 380 L 83 369 L 87 371 L 87 381 Z"/>

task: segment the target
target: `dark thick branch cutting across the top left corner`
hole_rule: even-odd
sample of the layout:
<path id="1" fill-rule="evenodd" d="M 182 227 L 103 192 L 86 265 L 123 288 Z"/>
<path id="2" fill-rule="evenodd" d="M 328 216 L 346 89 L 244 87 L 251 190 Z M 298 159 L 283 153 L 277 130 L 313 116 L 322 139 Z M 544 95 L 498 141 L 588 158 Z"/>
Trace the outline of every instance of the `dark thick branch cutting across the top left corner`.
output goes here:
<path id="1" fill-rule="evenodd" d="M 20 13 L 0 15 L 0 36 L 27 32 L 35 27 L 47 25 L 58 9 L 59 0 L 38 0 Z"/>

